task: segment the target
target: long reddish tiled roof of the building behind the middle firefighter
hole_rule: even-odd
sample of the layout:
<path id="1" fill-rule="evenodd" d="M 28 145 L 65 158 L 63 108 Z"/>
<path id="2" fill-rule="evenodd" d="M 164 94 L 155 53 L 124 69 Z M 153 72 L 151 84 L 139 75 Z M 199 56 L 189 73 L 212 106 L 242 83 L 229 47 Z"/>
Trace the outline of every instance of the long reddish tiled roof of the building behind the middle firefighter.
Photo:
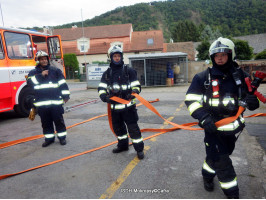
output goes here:
<path id="1" fill-rule="evenodd" d="M 61 35 L 63 52 L 83 55 L 77 47 L 77 40 L 83 37 L 82 28 L 55 29 L 54 35 Z M 111 43 L 123 43 L 124 52 L 162 51 L 161 30 L 133 32 L 132 24 L 94 26 L 84 28 L 84 37 L 89 38 L 86 54 L 105 54 Z"/>

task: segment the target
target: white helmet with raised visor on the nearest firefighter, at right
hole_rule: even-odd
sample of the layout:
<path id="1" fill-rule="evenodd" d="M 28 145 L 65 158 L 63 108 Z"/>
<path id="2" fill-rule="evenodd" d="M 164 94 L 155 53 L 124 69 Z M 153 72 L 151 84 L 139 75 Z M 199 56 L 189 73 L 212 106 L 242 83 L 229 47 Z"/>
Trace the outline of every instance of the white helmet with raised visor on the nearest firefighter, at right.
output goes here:
<path id="1" fill-rule="evenodd" d="M 219 37 L 211 44 L 209 55 L 212 58 L 212 55 L 220 52 L 232 54 L 232 60 L 234 60 L 236 57 L 235 44 L 227 38 Z"/>

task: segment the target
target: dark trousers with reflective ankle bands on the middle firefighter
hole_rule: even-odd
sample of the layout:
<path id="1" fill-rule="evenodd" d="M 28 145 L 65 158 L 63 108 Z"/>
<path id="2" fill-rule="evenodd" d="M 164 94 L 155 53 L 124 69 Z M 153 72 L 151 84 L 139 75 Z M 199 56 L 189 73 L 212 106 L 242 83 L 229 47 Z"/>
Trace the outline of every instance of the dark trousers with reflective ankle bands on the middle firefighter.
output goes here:
<path id="1" fill-rule="evenodd" d="M 121 111 L 112 110 L 112 125 L 118 139 L 118 148 L 128 148 L 128 134 L 132 140 L 134 149 L 137 152 L 143 151 L 144 143 L 138 122 L 138 113 L 135 106 L 123 109 Z"/>

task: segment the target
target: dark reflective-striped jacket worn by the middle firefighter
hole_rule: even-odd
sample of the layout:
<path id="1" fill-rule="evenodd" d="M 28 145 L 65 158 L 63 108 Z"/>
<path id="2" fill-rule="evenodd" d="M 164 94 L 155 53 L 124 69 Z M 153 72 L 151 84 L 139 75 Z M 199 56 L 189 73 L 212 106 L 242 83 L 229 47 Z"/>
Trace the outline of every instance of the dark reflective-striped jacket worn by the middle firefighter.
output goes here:
<path id="1" fill-rule="evenodd" d="M 130 100 L 133 89 L 141 91 L 140 83 L 137 80 L 137 72 L 124 64 L 120 66 L 110 64 L 110 67 L 102 75 L 98 93 L 100 97 L 108 95 Z M 112 110 L 123 110 L 135 104 L 135 99 L 131 99 L 127 105 L 112 101 L 111 108 Z"/>

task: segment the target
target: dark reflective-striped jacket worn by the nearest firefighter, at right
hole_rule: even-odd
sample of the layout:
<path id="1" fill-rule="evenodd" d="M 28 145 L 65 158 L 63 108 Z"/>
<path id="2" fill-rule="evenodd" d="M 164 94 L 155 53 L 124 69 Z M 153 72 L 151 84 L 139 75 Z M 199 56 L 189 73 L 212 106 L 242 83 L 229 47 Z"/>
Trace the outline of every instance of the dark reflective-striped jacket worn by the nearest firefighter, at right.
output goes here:
<path id="1" fill-rule="evenodd" d="M 193 118 L 201 121 L 210 114 L 217 122 L 237 113 L 239 100 L 247 94 L 244 78 L 248 75 L 235 62 L 228 72 L 225 74 L 217 67 L 212 67 L 195 75 L 185 99 Z M 238 78 L 234 78 L 233 73 L 238 74 Z M 218 94 L 213 91 L 214 81 L 218 82 Z M 237 85 L 240 83 L 239 81 L 241 84 Z M 235 134 L 242 131 L 244 126 L 244 118 L 239 116 L 234 122 L 219 127 L 218 132 Z"/>

